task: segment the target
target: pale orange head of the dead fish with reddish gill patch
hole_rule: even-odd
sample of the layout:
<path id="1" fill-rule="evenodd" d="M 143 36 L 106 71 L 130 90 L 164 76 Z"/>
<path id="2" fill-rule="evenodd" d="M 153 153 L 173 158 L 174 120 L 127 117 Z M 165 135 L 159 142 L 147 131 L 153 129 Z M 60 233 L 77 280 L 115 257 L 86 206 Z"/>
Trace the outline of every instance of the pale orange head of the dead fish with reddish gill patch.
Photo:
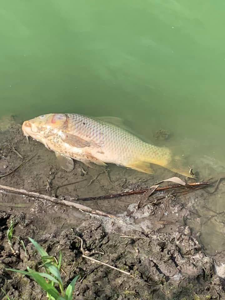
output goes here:
<path id="1" fill-rule="evenodd" d="M 46 138 L 57 134 L 67 127 L 67 115 L 64 113 L 49 113 L 24 121 L 22 131 L 26 137 L 31 137 L 43 144 Z"/>

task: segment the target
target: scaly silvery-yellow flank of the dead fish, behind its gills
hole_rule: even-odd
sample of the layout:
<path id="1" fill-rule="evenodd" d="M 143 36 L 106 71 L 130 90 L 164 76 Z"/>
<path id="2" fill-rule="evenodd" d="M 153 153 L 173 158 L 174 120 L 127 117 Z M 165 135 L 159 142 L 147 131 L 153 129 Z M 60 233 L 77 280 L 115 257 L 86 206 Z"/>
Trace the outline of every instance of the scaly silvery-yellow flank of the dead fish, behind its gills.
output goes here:
<path id="1" fill-rule="evenodd" d="M 92 139 L 95 143 L 101 144 L 101 148 L 112 149 L 111 157 L 115 157 L 115 161 L 121 158 L 130 161 L 140 158 L 140 156 L 152 153 L 155 160 L 158 157 L 163 158 L 163 148 L 159 148 L 148 143 L 144 143 L 139 138 L 116 127 L 112 124 L 86 117 L 79 114 L 67 114 L 69 118 L 68 132 L 79 135 L 83 139 Z"/>

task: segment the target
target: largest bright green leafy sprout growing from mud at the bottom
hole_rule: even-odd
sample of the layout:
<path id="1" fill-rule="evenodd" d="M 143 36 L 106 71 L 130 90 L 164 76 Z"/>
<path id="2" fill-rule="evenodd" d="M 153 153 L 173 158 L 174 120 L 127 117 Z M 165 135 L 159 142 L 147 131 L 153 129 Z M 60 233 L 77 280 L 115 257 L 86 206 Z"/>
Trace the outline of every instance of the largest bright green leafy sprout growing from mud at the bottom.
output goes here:
<path id="1" fill-rule="evenodd" d="M 30 242 L 39 252 L 42 265 L 40 267 L 45 268 L 45 272 L 37 272 L 27 267 L 27 271 L 7 268 L 6 270 L 24 274 L 35 280 L 44 291 L 47 293 L 49 300 L 73 300 L 73 291 L 75 284 L 79 278 L 76 276 L 72 282 L 64 289 L 63 280 L 60 275 L 60 268 L 62 264 L 62 253 L 59 253 L 59 259 L 50 256 L 47 252 L 32 238 L 28 237 Z"/>

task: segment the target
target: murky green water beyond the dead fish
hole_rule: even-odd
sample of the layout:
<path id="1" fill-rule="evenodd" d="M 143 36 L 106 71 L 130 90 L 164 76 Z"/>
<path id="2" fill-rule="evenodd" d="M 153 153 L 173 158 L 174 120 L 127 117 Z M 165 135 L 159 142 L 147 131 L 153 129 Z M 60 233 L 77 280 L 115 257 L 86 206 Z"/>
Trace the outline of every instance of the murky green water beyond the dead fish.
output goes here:
<path id="1" fill-rule="evenodd" d="M 0 116 L 121 117 L 151 139 L 170 131 L 161 143 L 182 146 L 202 177 L 221 172 L 224 9 L 222 0 L 2 0 Z"/>

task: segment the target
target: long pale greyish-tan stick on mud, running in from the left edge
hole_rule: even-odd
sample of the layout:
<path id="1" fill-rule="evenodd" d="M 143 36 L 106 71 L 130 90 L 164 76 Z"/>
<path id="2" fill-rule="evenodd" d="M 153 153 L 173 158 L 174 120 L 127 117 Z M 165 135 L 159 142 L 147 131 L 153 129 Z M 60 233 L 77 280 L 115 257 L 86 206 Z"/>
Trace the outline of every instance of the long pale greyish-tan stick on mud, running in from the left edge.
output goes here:
<path id="1" fill-rule="evenodd" d="M 97 210 L 97 209 L 92 209 L 88 206 L 78 204 L 78 203 L 74 203 L 74 202 L 71 202 L 71 201 L 68 201 L 68 200 L 59 200 L 55 197 L 50 197 L 50 196 L 43 195 L 43 194 L 38 194 L 38 193 L 35 193 L 35 192 L 28 192 L 28 191 L 23 190 L 23 189 L 9 187 L 9 186 L 5 186 L 5 185 L 0 184 L 0 192 L 2 192 L 2 191 L 13 192 L 15 194 L 24 195 L 24 196 L 28 196 L 28 197 L 31 197 L 31 198 L 42 199 L 42 200 L 50 201 L 50 202 L 60 204 L 60 205 L 75 207 L 79 210 L 89 212 L 89 213 L 93 213 L 93 214 L 100 215 L 100 216 L 104 216 L 104 217 L 110 217 L 110 218 L 115 218 L 116 217 L 116 216 L 108 214 L 106 212 L 102 212 L 102 211 Z"/>

